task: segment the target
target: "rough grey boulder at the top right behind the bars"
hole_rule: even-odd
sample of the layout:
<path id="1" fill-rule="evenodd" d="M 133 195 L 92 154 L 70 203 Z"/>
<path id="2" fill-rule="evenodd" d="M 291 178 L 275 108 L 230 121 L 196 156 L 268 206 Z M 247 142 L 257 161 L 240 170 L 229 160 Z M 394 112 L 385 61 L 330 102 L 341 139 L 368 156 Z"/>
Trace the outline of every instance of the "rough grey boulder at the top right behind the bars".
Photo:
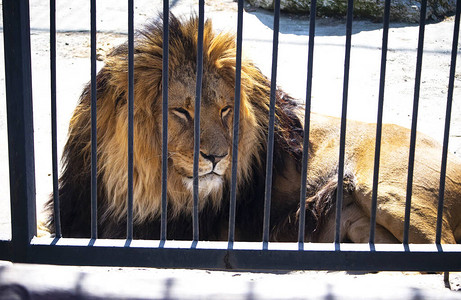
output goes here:
<path id="1" fill-rule="evenodd" d="M 274 0 L 248 0 L 256 7 L 273 9 Z M 281 0 L 280 8 L 283 11 L 294 13 L 309 12 L 309 0 Z M 456 0 L 428 0 L 426 19 L 442 20 L 454 14 Z M 421 10 L 420 0 L 392 0 L 391 20 L 400 22 L 419 22 Z M 317 15 L 341 17 L 347 11 L 347 0 L 317 0 Z M 384 0 L 354 0 L 354 17 L 382 20 Z"/>

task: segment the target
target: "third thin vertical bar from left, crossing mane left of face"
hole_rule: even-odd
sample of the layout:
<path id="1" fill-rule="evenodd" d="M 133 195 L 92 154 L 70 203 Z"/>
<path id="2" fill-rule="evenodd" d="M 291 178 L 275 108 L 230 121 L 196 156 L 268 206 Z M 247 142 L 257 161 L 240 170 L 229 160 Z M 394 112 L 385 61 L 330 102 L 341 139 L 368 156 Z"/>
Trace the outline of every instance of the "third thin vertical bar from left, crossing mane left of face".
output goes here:
<path id="1" fill-rule="evenodd" d="M 133 239 L 134 7 L 128 0 L 128 195 L 126 238 Z"/>

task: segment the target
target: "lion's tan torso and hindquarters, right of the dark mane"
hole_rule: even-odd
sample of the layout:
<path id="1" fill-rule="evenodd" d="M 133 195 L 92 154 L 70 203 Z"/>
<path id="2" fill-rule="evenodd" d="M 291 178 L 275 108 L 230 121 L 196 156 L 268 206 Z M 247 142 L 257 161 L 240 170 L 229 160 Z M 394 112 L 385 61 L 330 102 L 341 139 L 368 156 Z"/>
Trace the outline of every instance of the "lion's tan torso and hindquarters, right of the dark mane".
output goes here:
<path id="1" fill-rule="evenodd" d="M 309 162 L 308 178 L 318 185 L 319 181 L 336 180 L 331 178 L 331 174 L 336 175 L 340 121 L 315 114 L 311 115 L 311 120 L 310 141 L 313 153 Z M 368 242 L 375 136 L 375 124 L 350 120 L 347 122 L 345 173 L 351 174 L 353 182 L 350 183 L 352 187 L 349 191 L 344 192 L 341 223 L 343 240 Z M 403 239 L 409 144 L 410 130 L 397 125 L 383 126 L 378 180 L 377 242 L 401 242 Z M 418 133 L 409 228 L 409 239 L 413 243 L 435 241 L 441 156 L 442 147 L 431 138 Z M 461 241 L 461 163 L 453 155 L 448 158 L 442 241 L 455 243 Z M 323 223 L 316 239 L 325 242 L 332 241 L 333 238 L 334 218 L 330 218 Z"/>

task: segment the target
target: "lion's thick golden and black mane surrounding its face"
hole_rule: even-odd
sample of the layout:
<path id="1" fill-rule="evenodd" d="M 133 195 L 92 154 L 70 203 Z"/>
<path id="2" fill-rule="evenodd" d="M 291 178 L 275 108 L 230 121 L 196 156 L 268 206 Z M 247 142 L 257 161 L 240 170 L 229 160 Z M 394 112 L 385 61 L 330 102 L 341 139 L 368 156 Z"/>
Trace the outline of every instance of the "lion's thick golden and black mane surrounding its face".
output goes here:
<path id="1" fill-rule="evenodd" d="M 196 65 L 198 20 L 169 18 L 169 76 L 185 64 Z M 136 34 L 134 44 L 134 237 L 156 239 L 160 232 L 162 18 Z M 204 72 L 214 71 L 234 87 L 236 44 L 231 34 L 213 32 L 206 21 Z M 123 238 L 127 211 L 128 46 L 115 48 L 97 79 L 97 198 L 98 231 L 102 238 Z M 283 173 L 287 157 L 298 162 L 303 130 L 296 102 L 278 90 L 275 109 L 274 174 Z M 270 81 L 250 61 L 242 62 L 241 122 L 238 161 L 237 231 L 244 240 L 261 235 L 264 200 Z M 90 236 L 91 86 L 87 84 L 69 125 L 63 152 L 59 197 L 62 234 Z M 203 105 L 203 104 L 202 104 Z M 190 141 L 193 143 L 193 141 Z M 299 164 L 297 164 L 299 165 Z M 230 167 L 229 167 L 230 169 Z M 200 201 L 200 238 L 225 236 L 229 172 L 222 188 Z M 174 172 L 168 172 L 168 238 L 190 239 L 192 195 Z M 280 215 L 289 215 L 277 208 Z M 288 208 L 287 208 L 288 209 Z M 52 200 L 48 227 L 54 230 Z M 272 223 L 284 222 L 273 218 Z"/>

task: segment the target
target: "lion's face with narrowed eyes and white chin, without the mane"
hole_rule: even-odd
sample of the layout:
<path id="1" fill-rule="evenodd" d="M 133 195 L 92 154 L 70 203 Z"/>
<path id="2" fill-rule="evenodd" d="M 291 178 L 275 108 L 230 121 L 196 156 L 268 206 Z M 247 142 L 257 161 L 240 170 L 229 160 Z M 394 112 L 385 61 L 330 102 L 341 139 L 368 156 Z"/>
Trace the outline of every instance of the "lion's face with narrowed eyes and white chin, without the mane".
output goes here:
<path id="1" fill-rule="evenodd" d="M 168 152 L 170 172 L 193 188 L 196 76 L 191 67 L 175 70 L 169 84 Z M 200 109 L 199 191 L 221 190 L 230 169 L 233 88 L 216 73 L 203 77 Z"/>

